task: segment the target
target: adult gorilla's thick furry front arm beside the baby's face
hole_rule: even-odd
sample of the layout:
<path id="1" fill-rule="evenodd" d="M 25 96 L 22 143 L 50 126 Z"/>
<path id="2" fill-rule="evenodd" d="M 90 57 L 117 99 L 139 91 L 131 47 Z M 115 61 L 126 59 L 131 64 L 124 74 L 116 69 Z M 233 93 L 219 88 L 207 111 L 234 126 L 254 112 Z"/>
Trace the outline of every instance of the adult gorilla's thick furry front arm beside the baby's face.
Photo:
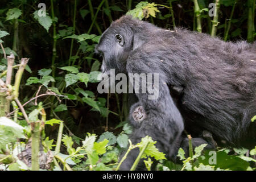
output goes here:
<path id="1" fill-rule="evenodd" d="M 149 135 L 153 140 L 157 141 L 156 147 L 160 151 L 169 152 L 169 155 L 172 156 L 180 146 L 180 136 L 184 130 L 184 123 L 170 95 L 166 75 L 164 75 L 163 71 L 156 64 L 151 64 L 152 66 L 148 65 L 148 63 L 154 63 L 154 61 L 156 60 L 141 59 L 141 56 L 137 56 L 136 54 L 131 56 L 127 61 L 127 73 L 138 73 L 139 75 L 141 73 L 145 73 L 146 75 L 147 73 L 159 74 L 159 85 L 154 85 L 154 89 L 157 89 L 159 92 L 158 98 L 149 100 L 149 93 L 137 93 L 139 102 L 146 111 L 147 119 L 141 122 L 141 125 L 134 127 L 130 139 L 134 144 L 137 144 L 141 142 L 142 137 Z M 152 77 L 154 78 L 154 76 Z M 154 81 L 152 82 L 154 83 Z M 140 88 L 141 84 L 141 80 L 139 80 L 138 85 Z M 135 81 L 134 85 L 136 85 Z M 129 170 L 137 158 L 138 152 L 138 150 L 132 150 L 120 169 Z"/>

